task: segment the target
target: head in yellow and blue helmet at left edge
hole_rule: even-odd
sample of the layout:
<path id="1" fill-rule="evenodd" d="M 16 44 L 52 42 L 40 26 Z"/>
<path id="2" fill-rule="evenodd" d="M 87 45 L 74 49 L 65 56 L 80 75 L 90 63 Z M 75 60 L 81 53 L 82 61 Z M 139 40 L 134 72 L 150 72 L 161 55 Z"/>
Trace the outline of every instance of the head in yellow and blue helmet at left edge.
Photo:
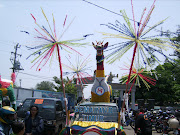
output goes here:
<path id="1" fill-rule="evenodd" d="M 0 108 L 0 121 L 6 124 L 11 124 L 15 119 L 16 111 L 10 106 Z"/>

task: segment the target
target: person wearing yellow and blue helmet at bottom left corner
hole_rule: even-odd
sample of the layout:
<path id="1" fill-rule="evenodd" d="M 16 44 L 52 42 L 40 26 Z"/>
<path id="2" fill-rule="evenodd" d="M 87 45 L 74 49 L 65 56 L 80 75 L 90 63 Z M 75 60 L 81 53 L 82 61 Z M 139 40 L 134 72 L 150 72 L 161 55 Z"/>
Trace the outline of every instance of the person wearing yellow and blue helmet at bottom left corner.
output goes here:
<path id="1" fill-rule="evenodd" d="M 10 106 L 0 108 L 0 135 L 10 135 L 12 133 L 11 124 L 14 121 L 15 110 Z"/>

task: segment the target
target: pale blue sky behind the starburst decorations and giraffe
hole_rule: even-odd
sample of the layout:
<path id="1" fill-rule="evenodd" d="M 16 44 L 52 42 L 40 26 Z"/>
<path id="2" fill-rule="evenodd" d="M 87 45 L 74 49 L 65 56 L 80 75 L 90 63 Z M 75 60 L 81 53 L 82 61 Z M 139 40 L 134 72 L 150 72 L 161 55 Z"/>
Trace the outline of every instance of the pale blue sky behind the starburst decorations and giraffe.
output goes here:
<path id="1" fill-rule="evenodd" d="M 66 26 L 72 22 L 70 27 L 64 33 L 62 40 L 71 40 L 81 38 L 86 34 L 92 34 L 88 36 L 85 40 L 81 41 L 87 43 L 85 47 L 74 48 L 82 56 L 77 53 L 70 51 L 68 53 L 65 50 L 60 50 L 62 63 L 66 65 L 76 65 L 78 60 L 84 60 L 87 56 L 90 62 L 87 63 L 87 71 L 90 75 L 93 75 L 96 69 L 96 51 L 92 46 L 92 42 L 104 41 L 104 43 L 109 42 L 111 44 L 122 42 L 121 39 L 104 39 L 103 36 L 98 32 L 109 32 L 114 33 L 114 31 L 104 27 L 100 24 L 107 24 L 109 22 L 115 22 L 118 20 L 125 23 L 120 14 L 120 10 L 125 10 L 127 16 L 132 19 L 132 6 L 131 0 L 89 0 L 100 7 L 108 9 L 109 12 L 100 7 L 94 6 L 85 2 L 83 0 L 0 0 L 0 74 L 3 79 L 10 79 L 12 69 L 12 63 L 10 61 L 13 58 L 11 52 L 14 52 L 15 45 L 19 43 L 20 48 L 18 48 L 17 53 L 21 54 L 21 57 L 17 57 L 17 60 L 21 63 L 24 70 L 19 71 L 16 75 L 16 85 L 23 88 L 35 88 L 37 83 L 42 81 L 52 81 L 54 76 L 60 76 L 60 69 L 58 60 L 56 57 L 47 63 L 41 71 L 36 71 L 37 66 L 33 66 L 31 61 L 35 56 L 31 56 L 29 59 L 27 57 L 33 53 L 33 50 L 28 50 L 26 46 L 31 46 L 38 44 L 37 39 L 33 35 L 25 34 L 21 31 L 28 31 L 30 33 L 35 33 L 34 28 L 38 28 L 34 23 L 34 19 L 31 14 L 34 15 L 37 22 L 40 25 L 44 25 L 48 28 L 47 21 L 43 16 L 41 8 L 44 10 L 46 17 L 48 18 L 50 25 L 53 23 L 52 13 L 56 21 L 56 31 L 57 34 L 61 33 L 63 30 L 64 20 L 66 18 Z M 150 9 L 153 0 L 133 0 L 134 16 L 136 20 L 140 20 L 143 9 L 146 7 Z M 157 0 L 155 3 L 155 9 L 151 15 L 148 26 L 152 26 L 157 22 L 168 19 L 156 30 L 167 31 L 170 30 L 175 32 L 177 25 L 180 24 L 180 1 L 179 0 Z M 131 21 L 133 24 L 133 22 Z M 152 35 L 158 34 L 154 30 Z M 121 77 L 127 71 L 121 70 L 125 62 L 128 62 L 132 58 L 132 50 L 127 52 L 122 59 L 116 61 L 113 64 L 108 64 L 105 61 L 105 74 L 108 75 L 112 72 L 114 75 L 119 75 Z M 170 50 L 167 53 L 171 53 Z M 104 54 L 106 55 L 106 53 Z M 159 56 L 160 57 L 160 56 Z M 129 62 L 130 63 L 130 62 Z M 63 67 L 63 72 L 68 72 L 66 68 Z M 66 76 L 63 76 L 66 78 Z M 20 81 L 21 80 L 21 81 Z M 118 79 L 117 79 L 118 80 Z"/>

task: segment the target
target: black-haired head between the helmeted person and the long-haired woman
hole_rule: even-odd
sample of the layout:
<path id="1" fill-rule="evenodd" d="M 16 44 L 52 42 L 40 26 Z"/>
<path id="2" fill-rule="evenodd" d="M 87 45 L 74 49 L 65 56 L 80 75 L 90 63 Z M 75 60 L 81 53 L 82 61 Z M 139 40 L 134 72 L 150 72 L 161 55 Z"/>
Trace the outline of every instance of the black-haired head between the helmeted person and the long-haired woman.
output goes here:
<path id="1" fill-rule="evenodd" d="M 15 121 L 11 124 L 14 134 L 18 134 L 20 131 L 22 131 L 24 129 L 24 126 L 24 123 L 20 121 Z"/>

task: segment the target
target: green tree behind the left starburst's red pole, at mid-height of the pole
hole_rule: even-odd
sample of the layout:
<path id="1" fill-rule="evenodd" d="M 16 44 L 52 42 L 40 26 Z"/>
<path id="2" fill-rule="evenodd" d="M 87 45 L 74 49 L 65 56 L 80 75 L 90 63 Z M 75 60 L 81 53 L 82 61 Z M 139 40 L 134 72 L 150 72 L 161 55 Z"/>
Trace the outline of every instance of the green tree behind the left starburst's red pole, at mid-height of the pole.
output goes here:
<path id="1" fill-rule="evenodd" d="M 62 92 L 62 83 L 61 83 L 61 79 L 58 77 L 53 77 L 54 82 L 56 83 L 56 86 L 54 87 L 57 92 Z M 65 92 L 66 93 L 71 93 L 71 94 L 75 94 L 77 95 L 77 87 L 74 83 L 69 83 L 69 79 L 63 79 L 64 85 L 65 85 Z"/>

